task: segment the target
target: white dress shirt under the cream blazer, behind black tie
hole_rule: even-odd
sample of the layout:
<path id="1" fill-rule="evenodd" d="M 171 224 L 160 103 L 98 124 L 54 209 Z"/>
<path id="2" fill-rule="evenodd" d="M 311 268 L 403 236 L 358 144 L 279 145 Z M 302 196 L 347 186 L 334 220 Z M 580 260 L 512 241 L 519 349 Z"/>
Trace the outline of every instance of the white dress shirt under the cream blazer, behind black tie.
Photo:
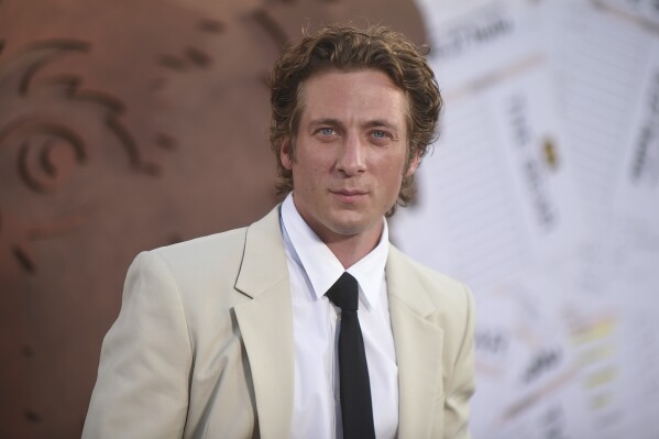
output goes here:
<path id="1" fill-rule="evenodd" d="M 378 439 L 396 437 L 398 367 L 384 270 L 388 229 L 384 218 L 377 246 L 344 270 L 300 217 L 290 194 L 282 205 L 295 345 L 293 438 L 342 437 L 338 362 L 341 310 L 325 294 L 344 271 L 360 286 L 359 319 L 369 363 L 375 435 Z"/>

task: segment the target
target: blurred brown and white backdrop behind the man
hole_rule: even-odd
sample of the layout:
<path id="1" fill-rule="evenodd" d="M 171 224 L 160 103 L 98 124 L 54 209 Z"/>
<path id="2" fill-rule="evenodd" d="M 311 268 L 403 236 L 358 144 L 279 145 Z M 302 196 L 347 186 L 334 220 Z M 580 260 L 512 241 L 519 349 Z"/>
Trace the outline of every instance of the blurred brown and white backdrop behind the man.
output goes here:
<path id="1" fill-rule="evenodd" d="M 0 0 L 0 437 L 79 437 L 139 251 L 277 202 L 267 75 L 338 21 L 431 47 L 392 237 L 474 290 L 474 438 L 659 437 L 653 0 Z"/>

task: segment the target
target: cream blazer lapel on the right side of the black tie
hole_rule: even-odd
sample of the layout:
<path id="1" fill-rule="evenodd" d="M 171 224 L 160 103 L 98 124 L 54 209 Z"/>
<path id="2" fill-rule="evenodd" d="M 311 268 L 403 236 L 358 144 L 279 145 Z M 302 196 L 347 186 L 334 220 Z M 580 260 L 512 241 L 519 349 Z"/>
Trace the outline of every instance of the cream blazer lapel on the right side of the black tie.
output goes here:
<path id="1" fill-rule="evenodd" d="M 398 437 L 430 437 L 441 380 L 443 331 L 428 321 L 437 311 L 409 262 L 393 245 L 386 265 L 389 315 L 398 362 Z"/>

